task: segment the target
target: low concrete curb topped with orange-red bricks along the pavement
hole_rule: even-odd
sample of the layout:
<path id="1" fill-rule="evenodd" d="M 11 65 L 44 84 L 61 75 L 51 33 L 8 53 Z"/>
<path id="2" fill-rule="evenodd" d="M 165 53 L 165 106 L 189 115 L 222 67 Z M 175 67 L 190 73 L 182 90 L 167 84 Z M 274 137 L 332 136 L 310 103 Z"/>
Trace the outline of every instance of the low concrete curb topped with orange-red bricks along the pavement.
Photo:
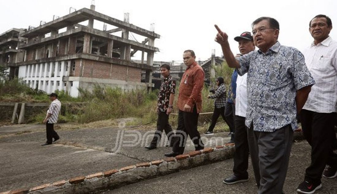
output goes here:
<path id="1" fill-rule="evenodd" d="M 301 131 L 295 131 L 294 140 L 303 140 Z M 234 143 L 205 148 L 176 157 L 164 158 L 151 162 L 138 163 L 120 169 L 97 172 L 87 176 L 78 176 L 67 181 L 62 180 L 44 184 L 30 189 L 14 189 L 0 192 L 0 194 L 41 194 L 41 193 L 90 193 L 104 189 L 115 189 L 127 184 L 149 179 L 155 176 L 174 173 L 179 170 L 201 166 L 210 162 L 217 162 L 233 158 Z"/>

